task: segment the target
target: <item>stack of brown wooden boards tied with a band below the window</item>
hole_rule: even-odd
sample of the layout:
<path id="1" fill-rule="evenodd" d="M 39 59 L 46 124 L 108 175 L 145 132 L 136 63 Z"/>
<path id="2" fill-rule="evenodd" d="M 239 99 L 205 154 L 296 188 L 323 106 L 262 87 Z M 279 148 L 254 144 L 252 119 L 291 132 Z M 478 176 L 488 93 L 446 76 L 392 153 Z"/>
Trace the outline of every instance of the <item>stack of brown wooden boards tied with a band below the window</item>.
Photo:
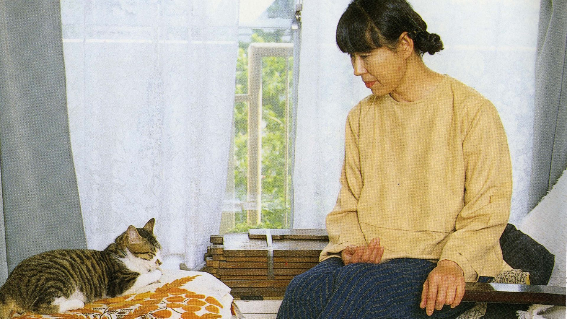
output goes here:
<path id="1" fill-rule="evenodd" d="M 319 263 L 328 243 L 324 229 L 251 229 L 248 234 L 211 236 L 205 255 L 209 272 L 234 297 L 281 297 L 295 275 Z"/>

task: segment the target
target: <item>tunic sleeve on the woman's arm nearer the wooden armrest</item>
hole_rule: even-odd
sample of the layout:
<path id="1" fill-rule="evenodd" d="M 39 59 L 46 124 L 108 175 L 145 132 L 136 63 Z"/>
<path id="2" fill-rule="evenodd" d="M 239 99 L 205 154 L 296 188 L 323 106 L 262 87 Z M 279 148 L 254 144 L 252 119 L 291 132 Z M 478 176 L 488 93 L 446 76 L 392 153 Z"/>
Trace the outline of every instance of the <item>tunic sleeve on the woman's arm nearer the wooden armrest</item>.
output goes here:
<path id="1" fill-rule="evenodd" d="M 481 272 L 500 271 L 501 265 L 487 266 L 485 259 L 487 256 L 502 258 L 498 240 L 510 215 L 510 154 L 506 134 L 492 103 L 483 103 L 472 114 L 463 140 L 463 156 L 464 207 L 439 260 L 458 263 L 465 279 L 476 281 Z"/>

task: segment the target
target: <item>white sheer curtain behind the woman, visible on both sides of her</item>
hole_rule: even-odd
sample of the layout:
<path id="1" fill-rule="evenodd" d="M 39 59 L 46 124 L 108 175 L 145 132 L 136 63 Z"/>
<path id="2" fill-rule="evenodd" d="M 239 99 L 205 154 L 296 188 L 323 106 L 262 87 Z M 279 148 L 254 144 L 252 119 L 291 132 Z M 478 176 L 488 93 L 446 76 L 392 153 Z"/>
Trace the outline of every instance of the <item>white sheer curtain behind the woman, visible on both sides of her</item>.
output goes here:
<path id="1" fill-rule="evenodd" d="M 350 1 L 304 1 L 294 171 L 294 228 L 324 228 L 344 158 L 346 114 L 370 94 L 335 44 Z M 445 50 L 426 65 L 492 100 L 506 129 L 513 165 L 511 223 L 526 215 L 534 119 L 539 2 L 410 0 Z"/>

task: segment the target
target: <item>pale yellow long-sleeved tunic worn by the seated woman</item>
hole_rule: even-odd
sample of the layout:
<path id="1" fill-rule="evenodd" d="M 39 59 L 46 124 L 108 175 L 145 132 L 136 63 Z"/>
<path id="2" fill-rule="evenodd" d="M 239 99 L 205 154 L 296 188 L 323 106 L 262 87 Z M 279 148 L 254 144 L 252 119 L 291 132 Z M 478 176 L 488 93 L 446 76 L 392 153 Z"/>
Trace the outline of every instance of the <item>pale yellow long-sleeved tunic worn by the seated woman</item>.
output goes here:
<path id="1" fill-rule="evenodd" d="M 511 269 L 499 243 L 512 192 L 506 135 L 493 104 L 456 79 L 415 102 L 359 102 L 340 182 L 321 261 L 379 237 L 382 261 L 448 259 L 467 282 Z"/>

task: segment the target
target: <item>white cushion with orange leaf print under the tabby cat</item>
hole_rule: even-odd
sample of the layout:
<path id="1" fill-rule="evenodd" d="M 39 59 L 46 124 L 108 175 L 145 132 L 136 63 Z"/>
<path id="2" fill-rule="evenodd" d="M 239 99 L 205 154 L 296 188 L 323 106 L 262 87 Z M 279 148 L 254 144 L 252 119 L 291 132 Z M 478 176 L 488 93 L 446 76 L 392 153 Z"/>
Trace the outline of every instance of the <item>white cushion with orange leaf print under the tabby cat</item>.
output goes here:
<path id="1" fill-rule="evenodd" d="M 82 309 L 49 315 L 26 312 L 12 319 L 217 319 L 232 318 L 230 288 L 206 272 L 164 270 L 159 282 L 137 293 L 102 299 Z"/>

